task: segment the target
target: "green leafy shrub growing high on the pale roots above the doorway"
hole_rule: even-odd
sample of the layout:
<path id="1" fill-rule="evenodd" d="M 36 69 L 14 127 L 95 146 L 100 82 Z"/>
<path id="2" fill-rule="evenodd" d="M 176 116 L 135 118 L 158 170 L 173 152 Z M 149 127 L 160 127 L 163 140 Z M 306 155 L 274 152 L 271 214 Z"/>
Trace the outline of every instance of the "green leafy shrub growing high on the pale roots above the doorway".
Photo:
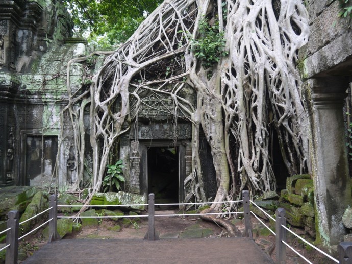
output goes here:
<path id="1" fill-rule="evenodd" d="M 205 68 L 211 67 L 219 62 L 221 57 L 228 55 L 225 44 L 224 32 L 219 31 L 218 21 L 211 26 L 207 18 L 200 20 L 199 36 L 197 39 L 191 39 L 191 47 L 194 56 L 202 61 Z"/>

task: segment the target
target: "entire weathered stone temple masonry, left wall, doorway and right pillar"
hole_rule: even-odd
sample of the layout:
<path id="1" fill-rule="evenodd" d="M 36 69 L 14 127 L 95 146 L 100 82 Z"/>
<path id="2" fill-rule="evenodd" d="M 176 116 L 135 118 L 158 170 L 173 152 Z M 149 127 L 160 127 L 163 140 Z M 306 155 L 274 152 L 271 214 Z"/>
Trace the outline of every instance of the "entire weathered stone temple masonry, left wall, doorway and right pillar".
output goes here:
<path id="1" fill-rule="evenodd" d="M 337 17 L 338 10 L 338 1 L 309 5 L 311 36 L 300 50 L 298 64 L 310 121 L 317 222 L 323 238 L 331 244 L 337 244 L 344 234 L 341 217 L 352 204 L 343 116 L 352 75 L 352 32 L 347 22 Z M 60 113 L 68 99 L 67 64 L 72 58 L 86 56 L 93 47 L 84 39 L 72 38 L 72 27 L 68 13 L 55 0 L 0 3 L 0 186 L 67 190 L 77 179 L 70 117 L 65 116 L 61 126 Z M 95 69 L 102 65 L 103 56 L 99 58 Z M 83 74 L 81 64 L 71 65 L 72 90 L 82 85 Z M 192 99 L 194 91 L 189 88 L 183 96 Z M 145 94 L 144 105 L 138 124 L 120 138 L 117 150 L 125 164 L 127 184 L 134 193 L 154 192 L 160 198 L 182 202 L 184 179 L 191 173 L 191 124 L 181 118 L 176 127 L 170 125 L 167 99 Z M 83 122 L 89 135 L 88 113 Z M 60 141 L 62 129 L 64 140 Z M 216 176 L 210 147 L 204 135 L 200 138 L 208 199 L 215 196 Z M 89 145 L 88 136 L 83 140 Z M 87 152 L 83 185 L 90 181 L 91 163 L 92 153 Z M 278 172 L 281 167 L 279 164 Z"/>

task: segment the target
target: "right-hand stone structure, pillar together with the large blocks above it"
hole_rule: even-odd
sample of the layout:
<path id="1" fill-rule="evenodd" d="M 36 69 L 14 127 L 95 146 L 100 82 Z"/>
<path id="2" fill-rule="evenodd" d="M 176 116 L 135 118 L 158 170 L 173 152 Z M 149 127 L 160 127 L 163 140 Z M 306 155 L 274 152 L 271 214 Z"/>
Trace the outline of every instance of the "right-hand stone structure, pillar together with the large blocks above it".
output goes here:
<path id="1" fill-rule="evenodd" d="M 352 75 L 352 32 L 338 17 L 339 4 L 308 2 L 311 33 L 298 63 L 309 117 L 316 232 L 327 246 L 343 240 L 342 215 L 352 204 L 343 116 Z"/>

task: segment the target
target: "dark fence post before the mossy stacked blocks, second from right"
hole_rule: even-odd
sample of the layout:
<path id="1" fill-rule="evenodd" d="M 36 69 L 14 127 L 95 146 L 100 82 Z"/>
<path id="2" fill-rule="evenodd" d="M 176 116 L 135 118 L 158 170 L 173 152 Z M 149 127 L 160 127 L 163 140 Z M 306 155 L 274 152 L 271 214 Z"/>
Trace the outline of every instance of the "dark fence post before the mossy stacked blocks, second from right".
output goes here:
<path id="1" fill-rule="evenodd" d="M 286 263 L 286 245 L 282 241 L 286 242 L 286 229 L 282 227 L 286 226 L 286 212 L 283 208 L 276 209 L 276 263 Z"/>

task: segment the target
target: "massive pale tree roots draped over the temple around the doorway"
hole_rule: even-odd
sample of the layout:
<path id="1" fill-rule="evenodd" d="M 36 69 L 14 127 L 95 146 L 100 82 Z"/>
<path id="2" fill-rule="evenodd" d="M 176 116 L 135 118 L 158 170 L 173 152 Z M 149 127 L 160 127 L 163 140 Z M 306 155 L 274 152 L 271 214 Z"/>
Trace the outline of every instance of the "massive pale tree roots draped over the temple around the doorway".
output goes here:
<path id="1" fill-rule="evenodd" d="M 202 38 L 199 23 L 205 18 L 212 24 L 218 21 L 225 39 L 225 52 L 210 66 L 192 46 L 192 41 Z M 172 100 L 174 122 L 180 117 L 192 122 L 192 173 L 185 180 L 186 201 L 206 198 L 200 129 L 211 147 L 216 171 L 214 201 L 238 198 L 244 188 L 252 194 L 275 190 L 269 135 L 273 129 L 289 173 L 307 171 L 307 118 L 295 64 L 308 34 L 307 11 L 298 0 L 166 0 L 105 59 L 85 93 L 91 104 L 93 190 L 100 189 L 119 136 L 138 121 L 145 104 L 141 94 L 146 91 Z M 195 90 L 196 105 L 181 95 L 186 87 Z M 70 94 L 70 111 L 83 102 L 76 100 L 79 94 Z M 75 136 L 82 138 L 82 133 L 76 129 Z M 76 140 L 77 155 L 84 155 L 83 141 Z M 81 175 L 83 166 L 77 170 Z M 212 209 L 220 207 L 214 203 Z"/>

